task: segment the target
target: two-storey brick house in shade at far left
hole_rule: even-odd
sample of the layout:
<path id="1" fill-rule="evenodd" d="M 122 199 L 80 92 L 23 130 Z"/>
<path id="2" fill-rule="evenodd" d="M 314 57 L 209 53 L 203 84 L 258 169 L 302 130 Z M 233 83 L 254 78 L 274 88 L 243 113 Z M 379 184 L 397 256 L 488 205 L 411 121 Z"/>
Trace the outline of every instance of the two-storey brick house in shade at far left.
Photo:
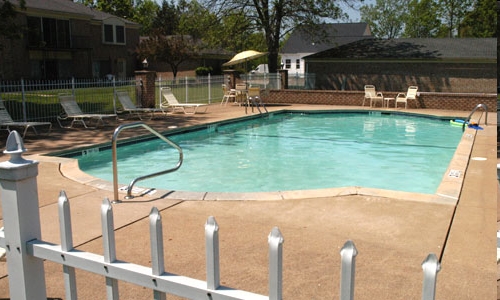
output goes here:
<path id="1" fill-rule="evenodd" d="M 133 76 L 139 24 L 70 0 L 26 0 L 26 10 L 17 11 L 28 31 L 1 41 L 1 79 Z"/>

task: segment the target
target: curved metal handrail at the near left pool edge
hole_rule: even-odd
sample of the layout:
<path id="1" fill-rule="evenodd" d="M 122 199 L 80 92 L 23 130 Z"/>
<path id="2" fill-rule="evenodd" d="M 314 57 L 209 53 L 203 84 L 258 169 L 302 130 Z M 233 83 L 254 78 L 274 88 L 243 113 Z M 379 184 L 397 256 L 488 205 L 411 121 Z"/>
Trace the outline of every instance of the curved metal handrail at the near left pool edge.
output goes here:
<path id="1" fill-rule="evenodd" d="M 149 130 L 149 132 L 151 132 L 152 134 L 156 135 L 162 141 L 166 142 L 170 146 L 172 146 L 175 149 L 177 149 L 177 151 L 179 151 L 179 161 L 177 162 L 177 164 L 176 164 L 176 166 L 174 168 L 171 168 L 171 169 L 168 169 L 168 170 L 164 170 L 164 171 L 160 171 L 160 172 L 156 172 L 156 173 L 152 173 L 152 174 L 149 174 L 149 175 L 139 176 L 139 177 L 135 178 L 134 180 L 132 180 L 130 182 L 130 184 L 128 185 L 128 187 L 127 187 L 127 196 L 125 196 L 125 199 L 132 199 L 132 198 L 134 198 L 134 196 L 132 196 L 132 188 L 134 187 L 134 185 L 138 181 L 174 172 L 174 171 L 176 171 L 177 169 L 179 169 L 181 167 L 182 162 L 184 160 L 183 159 L 184 158 L 184 154 L 182 153 L 181 147 L 179 147 L 176 143 L 172 142 L 171 140 L 169 140 L 165 136 L 161 135 L 159 132 L 157 132 L 153 128 L 151 128 L 148 125 L 144 124 L 143 122 L 134 122 L 134 123 L 128 123 L 128 124 L 123 124 L 123 125 L 118 126 L 115 129 L 115 132 L 113 133 L 113 138 L 112 138 L 113 190 L 114 190 L 114 196 L 115 196 L 115 201 L 114 202 L 120 202 L 120 200 L 118 199 L 118 167 L 117 167 L 118 162 L 117 162 L 117 158 L 116 158 L 117 157 L 117 154 L 116 154 L 116 143 L 117 143 L 118 135 L 120 134 L 120 132 L 123 129 L 134 128 L 134 127 L 143 127 L 145 129 Z"/>

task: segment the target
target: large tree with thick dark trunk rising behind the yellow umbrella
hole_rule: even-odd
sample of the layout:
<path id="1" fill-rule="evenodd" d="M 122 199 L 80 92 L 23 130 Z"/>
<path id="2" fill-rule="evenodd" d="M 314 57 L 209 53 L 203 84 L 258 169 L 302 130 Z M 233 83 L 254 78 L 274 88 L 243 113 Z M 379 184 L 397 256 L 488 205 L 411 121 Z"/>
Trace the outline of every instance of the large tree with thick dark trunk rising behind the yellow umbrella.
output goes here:
<path id="1" fill-rule="evenodd" d="M 360 0 L 341 0 L 355 2 Z M 299 26 L 317 25 L 325 20 L 337 19 L 342 15 L 340 1 L 331 0 L 204 0 L 204 5 L 213 11 L 218 19 L 234 14 L 243 14 L 249 20 L 250 30 L 264 36 L 268 52 L 269 71 L 278 69 L 278 51 L 281 38 Z M 238 49 L 238 51 L 247 49 Z"/>

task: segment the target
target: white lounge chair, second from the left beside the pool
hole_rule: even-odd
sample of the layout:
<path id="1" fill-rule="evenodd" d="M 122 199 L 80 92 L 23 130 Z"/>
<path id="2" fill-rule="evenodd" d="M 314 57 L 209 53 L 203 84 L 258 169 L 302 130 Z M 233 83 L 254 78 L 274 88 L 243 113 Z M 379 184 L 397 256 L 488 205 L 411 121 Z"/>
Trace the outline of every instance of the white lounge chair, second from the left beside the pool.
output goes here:
<path id="1" fill-rule="evenodd" d="M 64 113 L 61 116 L 57 117 L 57 122 L 59 123 L 59 126 L 61 128 L 72 128 L 73 124 L 75 123 L 81 123 L 83 127 L 89 128 L 87 126 L 87 123 L 85 123 L 85 120 L 88 120 L 89 125 L 92 120 L 95 120 L 96 122 L 96 127 L 99 125 L 99 123 L 102 123 L 104 125 L 104 118 L 115 118 L 115 120 L 118 118 L 116 114 L 86 114 L 83 113 L 80 107 L 78 106 L 78 103 L 76 103 L 75 96 L 73 95 L 59 95 L 59 102 L 61 103 L 61 106 L 64 109 Z M 71 119 L 71 125 L 70 126 L 63 126 L 61 124 L 61 120 L 68 120 Z"/>

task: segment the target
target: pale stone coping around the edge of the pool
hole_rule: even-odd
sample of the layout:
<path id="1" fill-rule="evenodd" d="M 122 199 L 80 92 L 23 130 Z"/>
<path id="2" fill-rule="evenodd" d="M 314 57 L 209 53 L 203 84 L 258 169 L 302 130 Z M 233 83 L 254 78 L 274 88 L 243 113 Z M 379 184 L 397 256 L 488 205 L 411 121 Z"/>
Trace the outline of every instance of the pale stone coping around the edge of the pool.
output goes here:
<path id="1" fill-rule="evenodd" d="M 360 112 L 367 113 L 366 110 L 360 109 L 282 109 L 273 111 L 272 114 L 279 113 L 297 113 L 300 111 L 309 113 L 325 113 L 325 112 Z M 381 112 L 397 115 L 409 115 L 409 116 L 420 116 L 428 117 L 431 119 L 454 119 L 456 117 L 436 115 L 436 114 L 426 114 L 422 112 L 403 112 L 403 111 L 392 111 L 392 110 L 370 110 L 368 112 Z M 214 124 L 220 123 L 233 123 L 240 121 L 242 119 L 252 119 L 256 118 L 256 115 L 243 116 L 237 118 L 226 119 L 222 121 L 209 122 L 204 124 L 198 124 L 194 126 L 189 126 L 192 130 L 198 130 L 199 128 L 208 128 Z M 174 131 L 182 131 L 187 128 L 176 128 Z M 135 197 L 152 197 L 161 199 L 171 199 L 171 200 L 184 200 L 184 201 L 276 201 L 276 200 L 294 200 L 294 199 L 307 199 L 307 198 L 325 198 L 325 197 L 339 197 L 339 196 L 353 196 L 353 195 L 363 195 L 363 196 L 373 196 L 382 198 L 393 198 L 405 201 L 417 201 L 417 202 L 429 202 L 429 203 L 441 203 L 446 205 L 456 205 L 460 197 L 460 193 L 463 186 L 463 180 L 465 172 L 470 160 L 470 155 L 475 139 L 474 129 L 466 128 L 466 131 L 462 135 L 462 138 L 455 150 L 450 164 L 446 172 L 443 175 L 441 183 L 434 194 L 424 194 L 415 192 L 404 192 L 396 190 L 386 190 L 386 189 L 376 189 L 368 188 L 362 186 L 347 186 L 339 188 L 324 188 L 324 189 L 312 189 L 312 190 L 288 190 L 288 191 L 273 191 L 273 192 L 192 192 L 192 191 L 172 191 L 172 190 L 161 190 L 161 189 L 151 189 L 147 187 L 134 186 Z M 165 133 L 165 132 L 163 132 Z M 172 131 L 169 131 L 172 133 Z M 146 136 L 143 138 L 147 138 Z M 107 143 L 100 144 L 100 146 L 107 145 Z M 95 145 L 93 145 L 95 146 Z M 81 149 L 78 147 L 77 149 Z M 84 147 L 85 148 L 85 147 Z M 76 149 L 72 149 L 76 150 Z M 113 183 L 93 177 L 85 172 L 83 172 L 78 165 L 78 160 L 75 158 L 52 156 L 54 153 L 42 153 L 33 155 L 34 159 L 44 162 L 59 163 L 59 170 L 63 177 L 73 180 L 77 183 L 91 186 L 96 189 L 105 190 L 113 192 Z M 451 171 L 458 170 L 460 176 L 452 177 L 449 176 Z M 125 195 L 126 192 L 122 190 L 126 188 L 127 185 L 119 184 L 119 194 L 121 196 Z M 119 199 L 114 199 L 119 200 Z M 126 200 L 125 200 L 126 201 Z"/>

